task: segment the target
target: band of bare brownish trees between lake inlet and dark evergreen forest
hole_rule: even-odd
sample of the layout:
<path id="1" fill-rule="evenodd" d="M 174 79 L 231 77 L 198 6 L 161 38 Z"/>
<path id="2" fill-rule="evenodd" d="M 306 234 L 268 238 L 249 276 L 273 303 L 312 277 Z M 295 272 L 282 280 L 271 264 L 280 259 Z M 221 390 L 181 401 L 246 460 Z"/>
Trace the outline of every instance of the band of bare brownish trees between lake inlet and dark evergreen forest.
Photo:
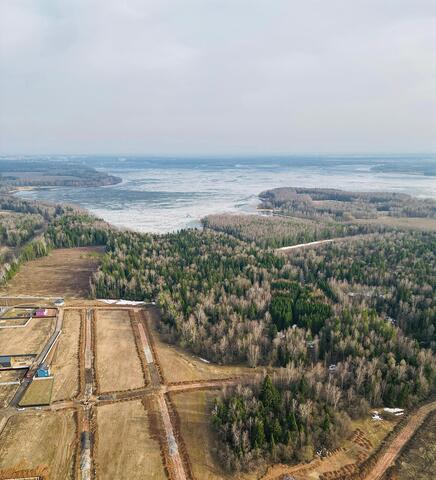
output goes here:
<path id="1" fill-rule="evenodd" d="M 202 219 L 204 228 L 228 233 L 240 240 L 255 242 L 262 248 L 280 248 L 327 238 L 385 232 L 388 227 L 364 223 L 325 222 L 306 218 L 265 215 L 209 215 Z"/>

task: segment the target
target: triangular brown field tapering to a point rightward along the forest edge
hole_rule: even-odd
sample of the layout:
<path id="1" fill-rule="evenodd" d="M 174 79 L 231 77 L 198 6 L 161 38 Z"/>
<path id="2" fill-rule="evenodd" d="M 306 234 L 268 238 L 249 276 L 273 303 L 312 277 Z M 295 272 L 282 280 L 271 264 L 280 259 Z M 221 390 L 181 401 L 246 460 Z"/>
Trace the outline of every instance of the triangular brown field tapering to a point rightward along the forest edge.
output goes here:
<path id="1" fill-rule="evenodd" d="M 227 378 L 253 374 L 254 369 L 238 366 L 224 366 L 213 363 L 206 363 L 175 345 L 165 343 L 155 328 L 157 321 L 156 310 L 150 309 L 146 312 L 149 319 L 150 332 L 154 339 L 154 346 L 159 364 L 167 382 L 186 382 L 194 380 L 206 380 L 214 378 Z"/>

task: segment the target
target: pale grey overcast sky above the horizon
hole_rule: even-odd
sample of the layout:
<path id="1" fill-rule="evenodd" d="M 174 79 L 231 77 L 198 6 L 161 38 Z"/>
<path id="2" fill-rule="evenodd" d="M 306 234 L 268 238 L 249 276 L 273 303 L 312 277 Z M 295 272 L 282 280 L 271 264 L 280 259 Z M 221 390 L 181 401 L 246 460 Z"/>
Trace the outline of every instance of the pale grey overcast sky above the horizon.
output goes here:
<path id="1" fill-rule="evenodd" d="M 0 0 L 0 154 L 435 151 L 435 0 Z"/>

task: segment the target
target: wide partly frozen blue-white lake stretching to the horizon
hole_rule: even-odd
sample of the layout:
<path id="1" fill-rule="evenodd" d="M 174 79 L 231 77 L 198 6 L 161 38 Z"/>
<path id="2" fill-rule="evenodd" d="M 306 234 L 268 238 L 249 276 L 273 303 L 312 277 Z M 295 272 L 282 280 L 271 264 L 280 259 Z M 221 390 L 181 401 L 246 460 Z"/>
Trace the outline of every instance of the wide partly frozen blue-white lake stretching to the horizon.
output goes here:
<path id="1" fill-rule="evenodd" d="M 255 212 L 258 194 L 281 186 L 436 198 L 436 156 L 428 155 L 70 158 L 123 181 L 106 187 L 54 187 L 19 195 L 77 204 L 114 225 L 144 232 L 198 226 L 211 213 Z"/>

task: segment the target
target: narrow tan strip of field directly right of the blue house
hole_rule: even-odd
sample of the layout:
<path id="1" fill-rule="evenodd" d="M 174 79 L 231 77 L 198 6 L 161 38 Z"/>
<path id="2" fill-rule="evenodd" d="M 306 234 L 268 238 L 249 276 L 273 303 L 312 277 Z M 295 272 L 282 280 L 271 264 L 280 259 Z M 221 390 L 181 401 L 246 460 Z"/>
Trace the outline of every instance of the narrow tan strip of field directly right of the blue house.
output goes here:
<path id="1" fill-rule="evenodd" d="M 80 315 L 80 310 L 64 312 L 62 333 L 51 360 L 53 401 L 71 399 L 79 390 Z"/>

